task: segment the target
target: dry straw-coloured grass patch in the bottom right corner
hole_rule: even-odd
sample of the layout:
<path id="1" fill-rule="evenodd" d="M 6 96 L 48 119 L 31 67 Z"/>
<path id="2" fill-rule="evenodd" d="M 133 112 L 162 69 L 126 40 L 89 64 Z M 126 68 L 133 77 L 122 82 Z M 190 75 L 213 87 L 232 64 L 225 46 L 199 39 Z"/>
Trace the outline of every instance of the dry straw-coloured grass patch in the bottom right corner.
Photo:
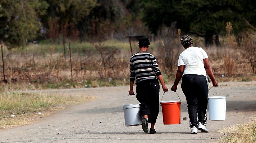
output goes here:
<path id="1" fill-rule="evenodd" d="M 256 118 L 250 123 L 238 124 L 221 130 L 226 133 L 218 143 L 255 143 L 256 142 Z"/>

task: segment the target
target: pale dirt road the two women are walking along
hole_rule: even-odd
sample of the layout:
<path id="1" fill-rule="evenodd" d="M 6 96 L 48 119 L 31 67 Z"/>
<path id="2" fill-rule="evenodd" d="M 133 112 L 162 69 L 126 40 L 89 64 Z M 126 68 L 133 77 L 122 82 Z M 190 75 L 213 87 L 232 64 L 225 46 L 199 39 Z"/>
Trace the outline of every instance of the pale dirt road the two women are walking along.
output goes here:
<path id="1" fill-rule="evenodd" d="M 191 140 L 196 143 L 214 142 L 220 136 L 219 129 L 248 122 L 256 117 L 256 82 L 229 82 L 219 83 L 219 85 L 222 85 L 228 94 L 226 120 L 208 120 L 206 127 L 209 132 L 207 133 L 198 131 L 198 134 L 190 134 L 188 120 L 181 120 L 181 124 L 177 125 L 163 125 L 161 107 L 156 123 L 156 134 L 144 133 L 141 126 L 125 127 L 122 105 L 128 95 L 128 86 L 81 88 L 44 90 L 43 92 L 70 95 L 87 94 L 97 98 L 92 102 L 56 112 L 37 123 L 2 130 L 0 143 L 141 143 L 145 141 L 188 143 Z M 168 88 L 170 87 L 171 85 L 168 85 Z M 177 93 L 182 100 L 181 116 L 188 117 L 187 103 L 180 87 Z M 209 94 L 222 96 L 225 93 L 222 88 L 213 88 Z M 162 95 L 161 91 L 160 96 Z M 176 99 L 178 97 L 174 92 L 166 93 L 163 98 L 163 100 Z M 129 97 L 127 104 L 134 103 L 138 103 L 136 97 Z"/>

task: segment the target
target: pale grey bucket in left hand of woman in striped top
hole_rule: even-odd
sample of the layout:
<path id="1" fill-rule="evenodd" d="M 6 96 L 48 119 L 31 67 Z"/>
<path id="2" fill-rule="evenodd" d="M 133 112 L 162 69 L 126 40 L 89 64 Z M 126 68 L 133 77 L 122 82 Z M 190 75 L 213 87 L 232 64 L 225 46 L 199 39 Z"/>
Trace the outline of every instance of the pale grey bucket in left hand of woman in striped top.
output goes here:
<path id="1" fill-rule="evenodd" d="M 125 126 L 142 125 L 140 104 L 123 105 Z"/>

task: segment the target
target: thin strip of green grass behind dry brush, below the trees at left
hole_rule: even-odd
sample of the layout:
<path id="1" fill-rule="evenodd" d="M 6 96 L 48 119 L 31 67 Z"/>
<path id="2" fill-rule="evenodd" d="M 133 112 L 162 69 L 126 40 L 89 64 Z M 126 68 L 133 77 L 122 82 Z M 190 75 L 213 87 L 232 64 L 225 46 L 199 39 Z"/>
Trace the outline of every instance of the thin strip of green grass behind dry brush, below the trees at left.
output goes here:
<path id="1" fill-rule="evenodd" d="M 158 47 L 157 45 L 158 43 L 159 43 L 158 41 L 151 41 L 151 44 L 150 44 L 151 52 L 153 51 L 153 49 L 156 49 Z M 70 42 L 70 47 L 71 47 L 72 53 L 87 54 L 90 52 L 96 52 L 96 49 L 94 48 L 95 44 L 97 43 L 91 43 L 88 41 L 83 41 L 83 42 L 72 41 Z M 131 49 L 128 39 L 127 41 L 106 40 L 106 41 L 101 41 L 101 44 L 106 47 L 116 47 L 118 49 L 128 50 L 128 51 L 130 51 Z M 131 45 L 132 45 L 132 50 L 134 54 L 139 50 L 138 41 L 131 41 Z M 67 56 L 68 56 L 68 50 L 69 50 L 68 46 L 69 46 L 69 43 L 66 43 L 65 50 L 66 50 Z M 52 43 L 50 41 L 40 41 L 38 45 L 32 44 L 32 45 L 27 45 L 23 48 L 13 48 L 11 51 L 12 53 L 18 53 L 18 54 L 30 53 L 35 55 L 46 55 L 51 53 L 51 49 L 53 54 L 63 53 L 64 48 L 63 48 L 62 41 L 56 41 L 56 43 Z M 8 51 L 6 50 L 7 49 L 4 49 L 4 53 L 8 53 Z"/>

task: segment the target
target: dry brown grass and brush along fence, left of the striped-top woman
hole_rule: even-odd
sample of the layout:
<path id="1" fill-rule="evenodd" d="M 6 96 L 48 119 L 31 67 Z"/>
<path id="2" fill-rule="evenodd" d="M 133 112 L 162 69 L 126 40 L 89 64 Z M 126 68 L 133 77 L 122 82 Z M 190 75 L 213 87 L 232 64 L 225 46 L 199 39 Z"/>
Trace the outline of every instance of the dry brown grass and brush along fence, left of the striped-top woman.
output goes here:
<path id="1" fill-rule="evenodd" d="M 74 48 L 74 51 L 72 48 L 72 45 L 66 47 L 66 58 L 64 53 L 51 47 L 45 51 L 4 49 L 0 78 L 5 82 L 41 83 L 129 78 L 129 50 L 120 50 L 116 46 Z"/>

